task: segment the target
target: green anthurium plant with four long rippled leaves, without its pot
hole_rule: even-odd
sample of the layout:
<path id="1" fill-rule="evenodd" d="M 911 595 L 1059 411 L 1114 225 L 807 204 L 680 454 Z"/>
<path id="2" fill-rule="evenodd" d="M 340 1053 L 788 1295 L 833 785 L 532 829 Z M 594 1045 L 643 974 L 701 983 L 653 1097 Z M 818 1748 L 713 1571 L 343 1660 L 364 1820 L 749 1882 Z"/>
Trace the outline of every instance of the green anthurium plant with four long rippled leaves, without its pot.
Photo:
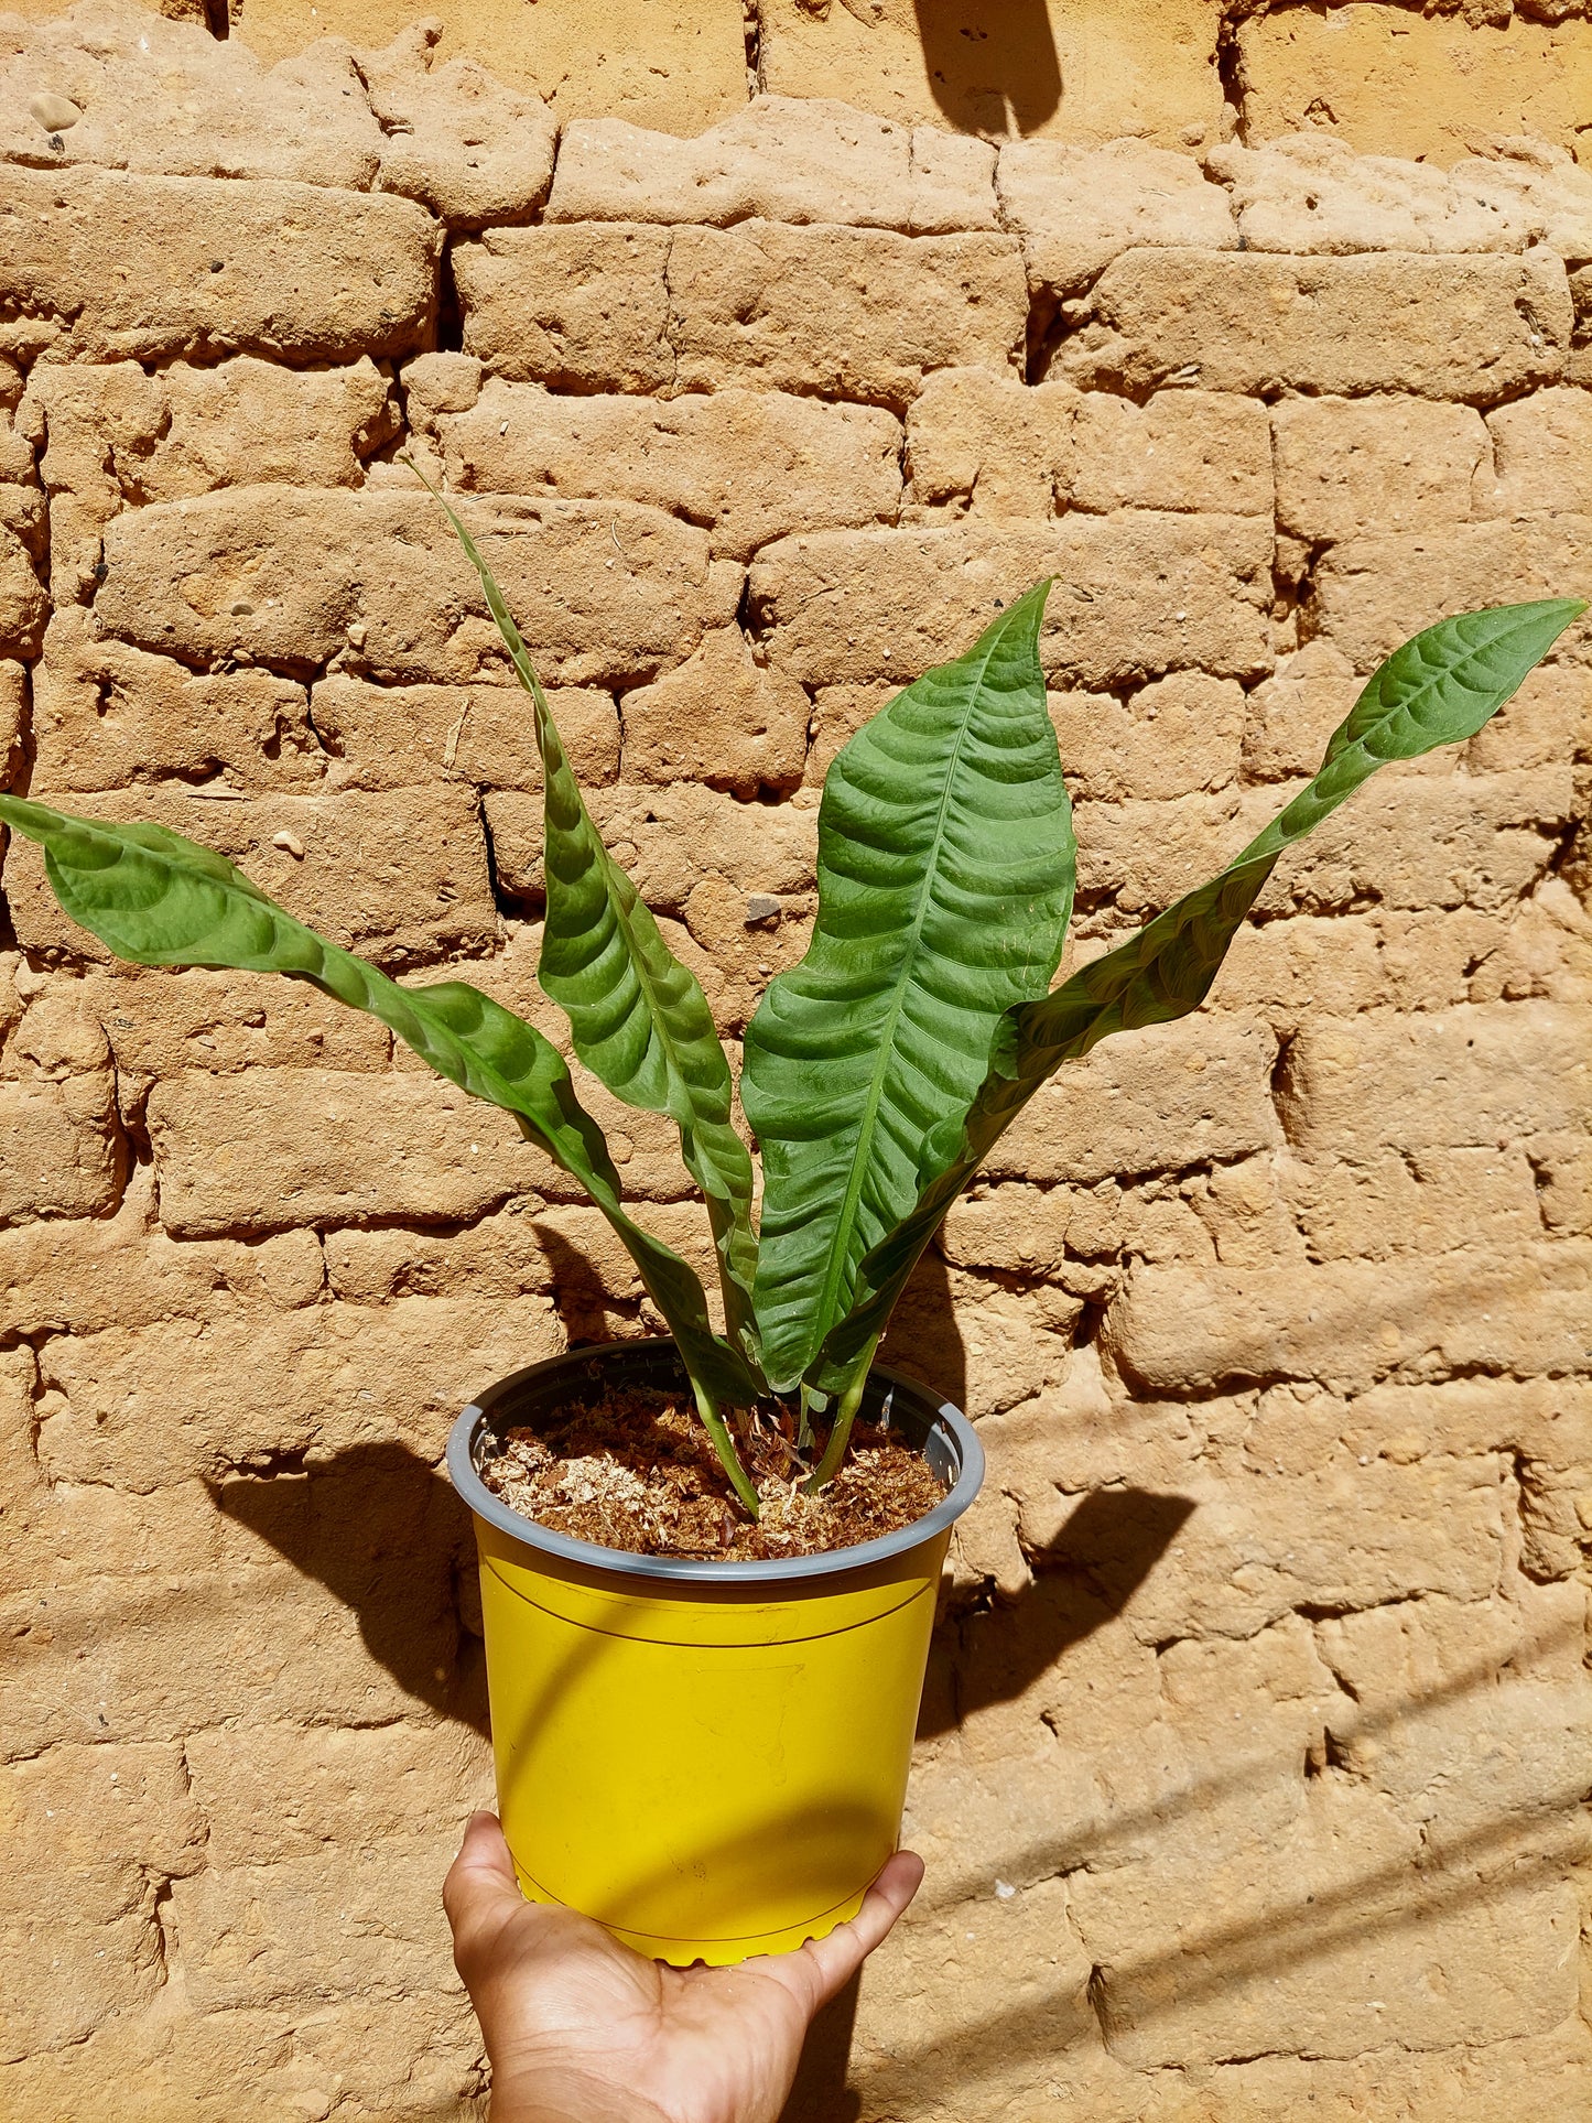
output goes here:
<path id="1" fill-rule="evenodd" d="M 792 1405 L 798 1442 L 817 1459 L 809 1486 L 824 1486 L 913 1265 L 1040 1085 L 1112 1032 L 1197 1008 L 1282 853 L 1378 766 L 1473 737 L 1586 609 L 1503 605 L 1416 635 L 1265 832 L 1053 987 L 1074 836 L 1038 656 L 1049 584 L 1019 597 L 964 656 L 896 694 L 828 771 L 813 940 L 771 981 L 745 1036 L 741 1102 L 764 1174 L 754 1221 L 751 1155 L 703 989 L 603 847 L 520 631 L 448 514 L 541 752 L 541 987 L 567 1013 L 586 1068 L 624 1104 L 679 1127 L 707 1204 L 724 1331 L 696 1272 L 626 1210 L 565 1057 L 516 1013 L 467 981 L 391 981 L 163 826 L 70 817 L 23 796 L 0 796 L 0 819 L 42 845 L 66 913 L 119 957 L 310 981 L 514 1115 L 628 1248 L 754 1516 L 758 1492 L 728 1416 L 771 1397 Z"/>

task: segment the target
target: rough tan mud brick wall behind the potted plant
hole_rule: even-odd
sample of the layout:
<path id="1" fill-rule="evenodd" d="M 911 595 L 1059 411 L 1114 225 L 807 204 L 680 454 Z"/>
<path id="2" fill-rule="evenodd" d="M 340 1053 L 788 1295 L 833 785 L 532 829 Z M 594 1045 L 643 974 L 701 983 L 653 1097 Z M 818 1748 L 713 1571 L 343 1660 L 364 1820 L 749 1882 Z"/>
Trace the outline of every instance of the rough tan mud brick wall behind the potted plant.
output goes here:
<path id="1" fill-rule="evenodd" d="M 0 17 L 11 786 L 556 1032 L 524 701 L 408 452 L 728 1040 L 802 951 L 836 747 L 1042 573 L 1100 951 L 1409 631 L 1592 590 L 1592 176 L 1142 134 L 560 130 L 429 32 L 267 72 Z M 909 1293 L 889 1354 L 991 1473 L 928 1885 L 824 2123 L 1592 2104 L 1590 664 L 1579 626 L 1291 858 L 1210 1008 L 1036 1100 Z M 110 964 L 28 847 L 4 900 L 0 2117 L 480 2115 L 439 1454 L 484 1380 L 654 1323 L 380 1028 Z M 584 1095 L 705 1259 L 667 1129 Z"/>

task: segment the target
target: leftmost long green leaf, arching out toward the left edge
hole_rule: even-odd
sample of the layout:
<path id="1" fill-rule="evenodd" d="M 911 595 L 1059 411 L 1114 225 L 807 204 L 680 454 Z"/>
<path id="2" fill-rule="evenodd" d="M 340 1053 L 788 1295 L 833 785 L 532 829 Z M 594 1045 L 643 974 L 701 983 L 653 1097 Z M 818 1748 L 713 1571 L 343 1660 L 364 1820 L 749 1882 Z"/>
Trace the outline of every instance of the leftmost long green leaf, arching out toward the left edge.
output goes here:
<path id="1" fill-rule="evenodd" d="M 0 796 L 0 819 L 40 843 L 55 898 L 117 957 L 310 981 L 380 1017 L 450 1083 L 512 1112 L 620 1233 L 692 1376 L 732 1405 L 756 1397 L 745 1363 L 709 1325 L 696 1272 L 626 1216 L 603 1132 L 575 1098 L 565 1057 L 535 1025 L 467 981 L 399 987 L 295 921 L 223 856 L 166 826 L 70 817 L 21 796 Z"/>

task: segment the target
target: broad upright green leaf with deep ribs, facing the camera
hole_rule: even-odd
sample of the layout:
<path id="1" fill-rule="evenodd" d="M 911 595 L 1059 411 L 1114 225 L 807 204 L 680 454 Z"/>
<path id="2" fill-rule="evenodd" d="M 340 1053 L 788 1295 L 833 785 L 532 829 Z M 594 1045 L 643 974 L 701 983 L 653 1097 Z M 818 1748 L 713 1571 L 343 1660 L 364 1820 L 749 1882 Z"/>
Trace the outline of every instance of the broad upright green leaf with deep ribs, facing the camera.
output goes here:
<path id="1" fill-rule="evenodd" d="M 911 1208 L 923 1138 L 966 1112 L 1002 1013 L 1042 996 L 1061 955 L 1074 843 L 1038 660 L 1046 590 L 898 694 L 824 783 L 813 943 L 764 994 L 741 1083 L 781 1391 Z"/>

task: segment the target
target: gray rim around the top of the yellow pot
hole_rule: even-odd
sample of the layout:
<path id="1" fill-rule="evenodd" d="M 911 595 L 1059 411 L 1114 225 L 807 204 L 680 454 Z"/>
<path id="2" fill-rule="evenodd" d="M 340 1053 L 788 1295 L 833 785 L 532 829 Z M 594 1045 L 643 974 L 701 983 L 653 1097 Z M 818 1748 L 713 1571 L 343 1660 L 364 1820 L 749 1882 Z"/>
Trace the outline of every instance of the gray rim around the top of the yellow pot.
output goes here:
<path id="1" fill-rule="evenodd" d="M 923 1518 L 915 1518 L 911 1526 L 885 1533 L 877 1541 L 858 1541 L 855 1548 L 830 1548 L 821 1556 L 790 1556 L 758 1563 L 713 1563 L 696 1556 L 639 1556 L 626 1548 L 601 1548 L 596 1541 L 577 1541 L 567 1533 L 554 1533 L 550 1526 L 537 1524 L 535 1518 L 524 1518 L 520 1512 L 509 1509 L 509 1505 L 503 1503 L 501 1497 L 495 1497 L 486 1482 L 482 1482 L 475 1471 L 475 1442 L 480 1439 L 482 1429 L 490 1422 L 497 1403 L 507 1395 L 518 1393 L 529 1382 L 565 1367 L 590 1365 L 603 1357 L 616 1357 L 622 1352 L 635 1354 L 637 1350 L 667 1348 L 673 1348 L 673 1340 L 667 1335 L 639 1335 L 630 1342 L 601 1342 L 592 1348 L 575 1348 L 567 1350 L 563 1357 L 548 1357 L 541 1363 L 529 1363 L 520 1371 L 509 1371 L 507 1378 L 499 1378 L 497 1384 L 488 1386 L 478 1401 L 471 1401 L 469 1408 L 463 1410 L 448 1435 L 448 1480 L 454 1490 L 478 1518 L 497 1526 L 499 1533 L 507 1533 L 516 1541 L 524 1541 L 526 1548 L 535 1548 L 541 1554 L 558 1556 L 563 1563 L 611 1571 L 618 1577 L 662 1580 L 696 1588 L 766 1586 L 771 1590 L 777 1586 L 811 1584 L 813 1580 L 851 1575 L 879 1563 L 887 1563 L 894 1556 L 900 1556 L 911 1548 L 919 1548 L 923 1541 L 932 1541 L 938 1533 L 947 1531 L 957 1518 L 962 1518 L 972 1499 L 979 1495 L 979 1486 L 985 1478 L 985 1448 L 979 1444 L 979 1433 L 962 1410 L 951 1401 L 938 1401 L 915 1378 L 904 1378 L 900 1371 L 887 1371 L 881 1365 L 870 1369 L 870 1382 L 879 1380 L 887 1393 L 898 1393 L 917 1403 L 917 1414 L 923 1418 L 925 1429 L 940 1431 L 945 1444 L 951 1448 L 957 1465 L 957 1478 L 934 1509 L 923 1514 Z"/>

